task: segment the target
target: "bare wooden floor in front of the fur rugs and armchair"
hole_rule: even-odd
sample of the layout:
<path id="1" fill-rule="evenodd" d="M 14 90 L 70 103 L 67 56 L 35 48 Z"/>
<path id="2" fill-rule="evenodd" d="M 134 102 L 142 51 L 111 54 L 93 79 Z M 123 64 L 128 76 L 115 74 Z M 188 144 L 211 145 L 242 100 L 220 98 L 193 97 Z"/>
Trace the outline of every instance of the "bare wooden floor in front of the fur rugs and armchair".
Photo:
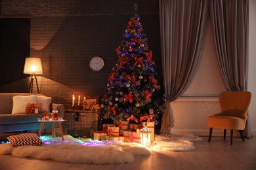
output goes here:
<path id="1" fill-rule="evenodd" d="M 154 149 L 150 156 L 137 156 L 134 163 L 116 165 L 92 165 L 61 163 L 51 160 L 35 160 L 32 158 L 14 158 L 11 155 L 0 155 L 0 169 L 256 169 L 256 138 L 245 139 L 234 137 L 233 145 L 230 145 L 229 137 L 226 141 L 222 137 L 212 137 L 207 142 L 195 141 L 195 149 L 186 152 L 171 152 Z M 68 153 L 67 153 L 68 154 Z"/>

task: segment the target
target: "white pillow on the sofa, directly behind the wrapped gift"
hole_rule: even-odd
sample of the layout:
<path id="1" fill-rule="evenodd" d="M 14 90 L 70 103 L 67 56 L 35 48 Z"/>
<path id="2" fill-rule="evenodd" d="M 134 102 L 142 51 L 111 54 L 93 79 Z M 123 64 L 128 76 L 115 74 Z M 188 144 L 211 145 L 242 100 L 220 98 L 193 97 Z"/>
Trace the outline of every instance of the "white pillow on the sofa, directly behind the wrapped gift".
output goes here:
<path id="1" fill-rule="evenodd" d="M 28 103 L 37 103 L 37 95 L 16 95 L 12 100 L 12 114 L 25 113 Z"/>

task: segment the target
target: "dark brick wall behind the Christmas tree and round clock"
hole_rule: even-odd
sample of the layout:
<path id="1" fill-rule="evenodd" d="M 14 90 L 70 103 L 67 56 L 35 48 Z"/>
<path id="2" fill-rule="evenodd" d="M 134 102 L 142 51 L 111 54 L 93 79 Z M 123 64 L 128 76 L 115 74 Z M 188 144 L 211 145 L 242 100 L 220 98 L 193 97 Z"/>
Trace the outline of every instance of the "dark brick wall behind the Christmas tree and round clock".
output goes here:
<path id="1" fill-rule="evenodd" d="M 161 90 L 156 94 L 162 95 L 158 0 L 2 0 L 1 14 L 31 18 L 30 56 L 43 63 L 43 75 L 37 76 L 40 93 L 68 107 L 72 94 L 93 98 L 106 92 L 108 75 L 117 62 L 115 49 L 133 15 L 134 3 L 158 66 Z M 93 56 L 104 59 L 102 71 L 90 69 Z"/>

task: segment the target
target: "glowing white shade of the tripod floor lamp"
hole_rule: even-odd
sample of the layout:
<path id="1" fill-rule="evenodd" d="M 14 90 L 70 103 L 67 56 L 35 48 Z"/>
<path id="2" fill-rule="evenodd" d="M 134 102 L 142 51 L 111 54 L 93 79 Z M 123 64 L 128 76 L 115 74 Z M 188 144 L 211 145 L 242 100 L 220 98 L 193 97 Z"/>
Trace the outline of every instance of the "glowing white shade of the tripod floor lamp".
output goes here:
<path id="1" fill-rule="evenodd" d="M 41 58 L 26 58 L 24 74 L 43 74 Z"/>

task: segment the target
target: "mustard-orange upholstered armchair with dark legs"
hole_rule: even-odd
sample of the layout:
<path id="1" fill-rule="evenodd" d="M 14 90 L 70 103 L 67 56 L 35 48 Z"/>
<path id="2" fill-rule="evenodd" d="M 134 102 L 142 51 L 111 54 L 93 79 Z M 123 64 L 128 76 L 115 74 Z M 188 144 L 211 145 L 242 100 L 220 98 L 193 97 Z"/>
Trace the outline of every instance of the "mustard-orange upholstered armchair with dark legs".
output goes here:
<path id="1" fill-rule="evenodd" d="M 230 129 L 230 144 L 232 144 L 233 130 L 238 130 L 242 141 L 244 141 L 242 130 L 244 130 L 247 120 L 251 92 L 222 92 L 219 95 L 219 103 L 221 112 L 207 118 L 208 142 L 211 141 L 213 128 L 224 129 L 224 139 L 226 139 L 226 129 Z"/>

